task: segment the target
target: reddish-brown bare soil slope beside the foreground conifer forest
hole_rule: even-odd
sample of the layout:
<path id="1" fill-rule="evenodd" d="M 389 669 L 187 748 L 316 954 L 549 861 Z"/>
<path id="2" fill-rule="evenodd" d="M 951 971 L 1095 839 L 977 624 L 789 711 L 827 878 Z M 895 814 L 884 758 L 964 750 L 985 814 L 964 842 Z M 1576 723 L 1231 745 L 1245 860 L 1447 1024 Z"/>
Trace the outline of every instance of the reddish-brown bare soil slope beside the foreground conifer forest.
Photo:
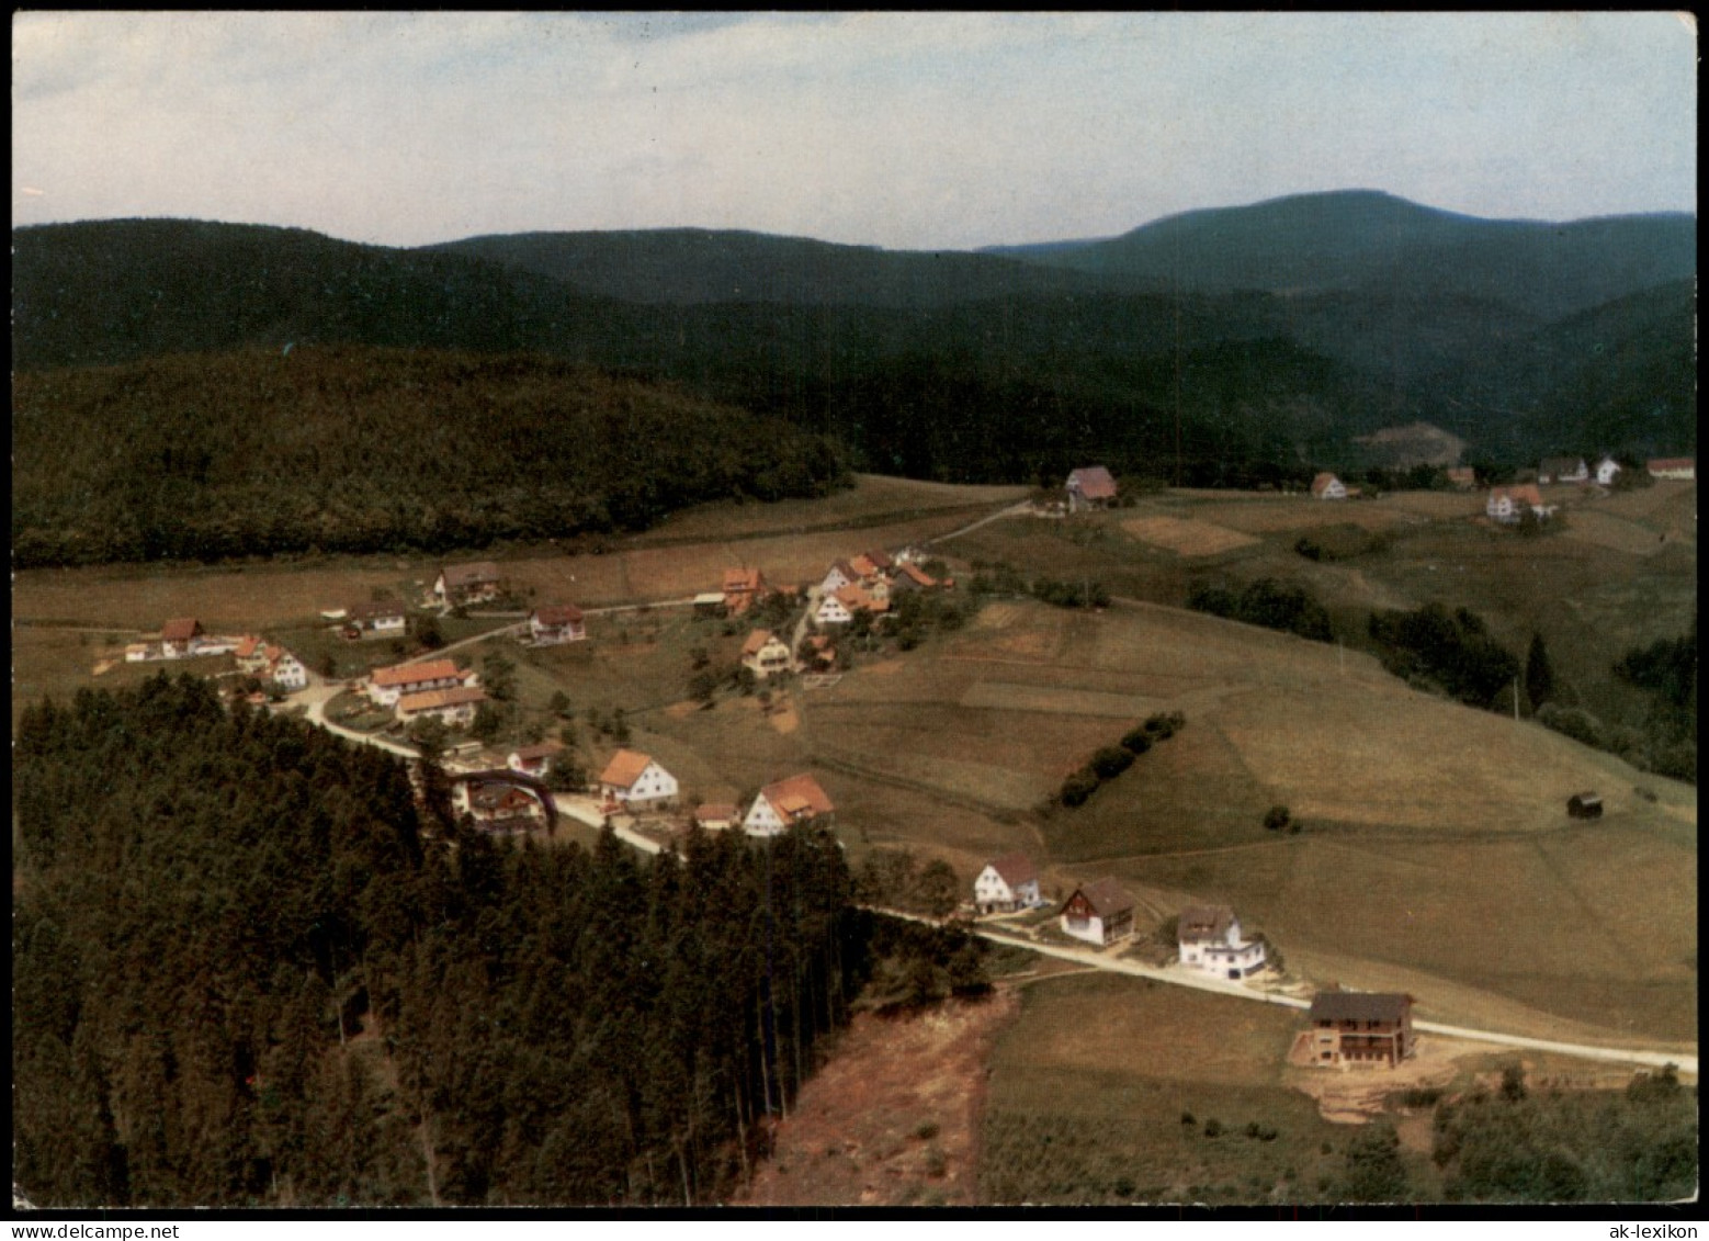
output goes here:
<path id="1" fill-rule="evenodd" d="M 972 1205 L 984 1065 L 1017 1010 L 1013 993 L 996 991 L 856 1015 L 735 1205 Z"/>

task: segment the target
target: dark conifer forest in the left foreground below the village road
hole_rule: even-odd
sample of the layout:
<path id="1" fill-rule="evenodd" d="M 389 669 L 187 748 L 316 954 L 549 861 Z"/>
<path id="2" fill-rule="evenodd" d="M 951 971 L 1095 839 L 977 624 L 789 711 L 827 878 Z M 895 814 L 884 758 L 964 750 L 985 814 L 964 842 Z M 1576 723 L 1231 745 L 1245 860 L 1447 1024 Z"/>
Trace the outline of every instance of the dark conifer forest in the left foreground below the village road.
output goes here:
<path id="1" fill-rule="evenodd" d="M 866 971 L 827 834 L 496 843 L 191 677 L 29 708 L 14 781 L 43 1207 L 716 1202 Z"/>

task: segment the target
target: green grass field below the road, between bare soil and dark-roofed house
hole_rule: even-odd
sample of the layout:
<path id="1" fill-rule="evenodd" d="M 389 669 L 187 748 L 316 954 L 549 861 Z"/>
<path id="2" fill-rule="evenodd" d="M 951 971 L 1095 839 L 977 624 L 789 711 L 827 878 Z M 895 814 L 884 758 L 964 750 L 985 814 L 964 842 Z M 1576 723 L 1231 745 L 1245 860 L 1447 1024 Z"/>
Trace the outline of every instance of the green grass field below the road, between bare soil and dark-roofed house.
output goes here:
<path id="1" fill-rule="evenodd" d="M 1126 978 L 1029 985 L 991 1058 L 983 1200 L 1333 1200 L 1350 1130 L 1283 1084 L 1297 1024 L 1292 1010 Z"/>

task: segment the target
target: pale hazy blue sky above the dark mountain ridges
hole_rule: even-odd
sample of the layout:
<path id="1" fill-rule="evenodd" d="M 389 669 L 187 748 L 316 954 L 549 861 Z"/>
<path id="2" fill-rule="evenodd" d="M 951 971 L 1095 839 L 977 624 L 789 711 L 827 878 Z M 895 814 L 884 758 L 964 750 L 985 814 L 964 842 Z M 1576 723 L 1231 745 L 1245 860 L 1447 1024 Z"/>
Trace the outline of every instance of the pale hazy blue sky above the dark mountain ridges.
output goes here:
<path id="1" fill-rule="evenodd" d="M 12 215 L 971 248 L 1350 186 L 1695 210 L 1695 74 L 1666 12 L 38 12 Z"/>

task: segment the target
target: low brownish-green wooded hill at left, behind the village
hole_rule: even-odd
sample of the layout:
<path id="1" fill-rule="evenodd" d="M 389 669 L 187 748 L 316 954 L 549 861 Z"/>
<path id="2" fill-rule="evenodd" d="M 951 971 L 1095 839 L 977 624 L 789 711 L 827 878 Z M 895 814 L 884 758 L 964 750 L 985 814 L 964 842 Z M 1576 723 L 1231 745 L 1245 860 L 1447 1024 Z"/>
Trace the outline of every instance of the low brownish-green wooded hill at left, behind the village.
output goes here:
<path id="1" fill-rule="evenodd" d="M 523 356 L 250 349 L 21 373 L 21 568 L 449 550 L 844 477 L 822 436 Z"/>

